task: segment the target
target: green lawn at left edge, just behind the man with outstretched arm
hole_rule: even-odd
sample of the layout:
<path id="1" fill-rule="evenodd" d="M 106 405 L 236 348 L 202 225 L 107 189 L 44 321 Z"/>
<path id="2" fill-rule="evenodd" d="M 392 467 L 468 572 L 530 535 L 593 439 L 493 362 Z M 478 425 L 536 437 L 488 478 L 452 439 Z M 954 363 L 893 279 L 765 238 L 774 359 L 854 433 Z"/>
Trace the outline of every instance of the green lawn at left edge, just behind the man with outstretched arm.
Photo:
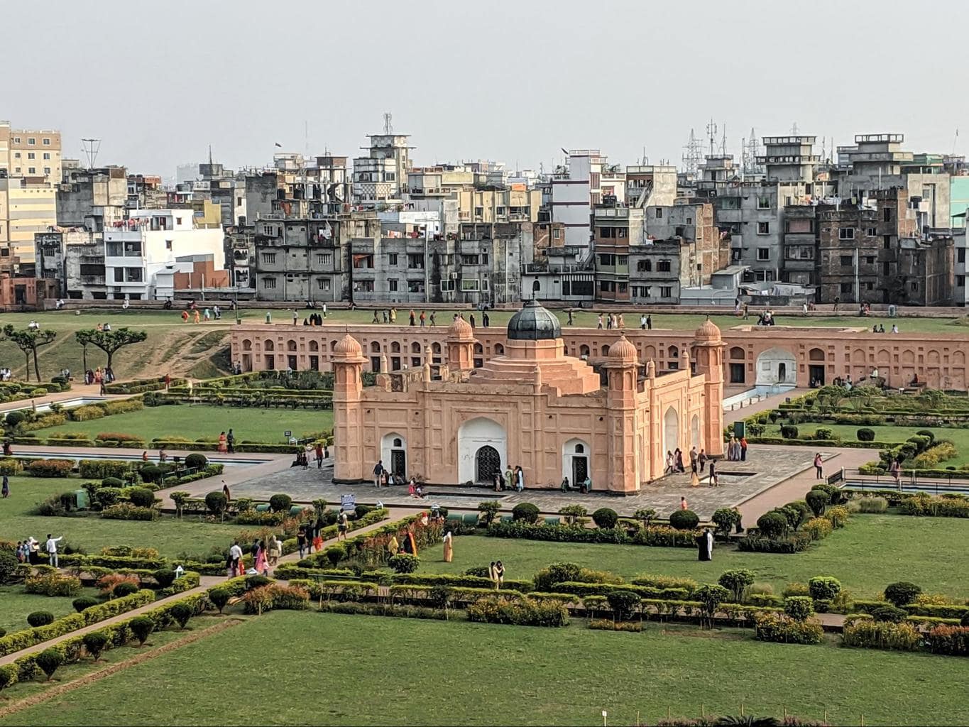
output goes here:
<path id="1" fill-rule="evenodd" d="M 78 490 L 80 484 L 74 478 L 12 477 L 10 497 L 0 500 L 2 537 L 17 541 L 33 536 L 43 543 L 47 533 L 52 533 L 55 537 L 63 535 L 72 547 L 83 548 L 87 553 L 100 553 L 106 546 L 128 545 L 157 548 L 163 555 L 177 557 L 180 553 L 203 554 L 213 547 L 228 547 L 235 533 L 242 529 L 238 525 L 178 521 L 172 517 L 141 522 L 97 517 L 43 518 L 32 514 L 35 503 L 51 494 Z M 216 478 L 212 481 L 212 490 L 219 489 Z"/>

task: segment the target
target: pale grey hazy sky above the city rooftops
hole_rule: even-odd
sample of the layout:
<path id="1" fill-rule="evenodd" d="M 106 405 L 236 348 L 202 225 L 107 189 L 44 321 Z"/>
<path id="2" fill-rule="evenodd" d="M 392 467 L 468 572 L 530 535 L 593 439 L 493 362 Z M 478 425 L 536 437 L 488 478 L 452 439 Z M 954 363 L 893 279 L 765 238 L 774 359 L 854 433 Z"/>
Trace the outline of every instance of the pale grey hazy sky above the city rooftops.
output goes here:
<path id="1" fill-rule="evenodd" d="M 417 164 L 538 168 L 560 147 L 677 165 L 712 116 L 741 137 L 852 141 L 903 132 L 953 151 L 969 111 L 969 4 L 418 0 L 133 3 L 4 8 L 0 118 L 100 137 L 99 164 L 172 176 L 212 144 L 228 167 L 284 150 L 354 156 L 411 134 Z M 956 150 L 969 141 L 964 122 Z"/>

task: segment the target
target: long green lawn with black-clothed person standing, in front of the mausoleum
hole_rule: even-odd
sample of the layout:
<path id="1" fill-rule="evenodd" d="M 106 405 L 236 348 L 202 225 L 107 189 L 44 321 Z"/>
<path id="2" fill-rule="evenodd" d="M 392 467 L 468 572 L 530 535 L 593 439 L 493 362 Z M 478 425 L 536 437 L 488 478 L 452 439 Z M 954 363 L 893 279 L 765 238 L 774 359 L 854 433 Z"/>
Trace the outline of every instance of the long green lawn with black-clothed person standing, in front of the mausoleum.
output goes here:
<path id="1" fill-rule="evenodd" d="M 716 583 L 732 568 L 748 568 L 760 583 L 780 593 L 791 582 L 813 576 L 834 576 L 856 597 L 874 597 L 894 581 L 911 581 L 927 592 L 969 598 L 969 562 L 952 557 L 953 544 L 969 538 L 969 521 L 954 518 L 912 518 L 902 515 L 856 515 L 849 524 L 805 551 L 789 555 L 740 553 L 720 546 L 713 560 L 697 560 L 689 548 L 586 545 L 460 536 L 454 559 L 444 562 L 441 546 L 421 554 L 421 571 L 460 573 L 501 560 L 506 578 L 531 578 L 556 561 L 575 562 L 630 578 L 639 573 L 685 576 Z"/>

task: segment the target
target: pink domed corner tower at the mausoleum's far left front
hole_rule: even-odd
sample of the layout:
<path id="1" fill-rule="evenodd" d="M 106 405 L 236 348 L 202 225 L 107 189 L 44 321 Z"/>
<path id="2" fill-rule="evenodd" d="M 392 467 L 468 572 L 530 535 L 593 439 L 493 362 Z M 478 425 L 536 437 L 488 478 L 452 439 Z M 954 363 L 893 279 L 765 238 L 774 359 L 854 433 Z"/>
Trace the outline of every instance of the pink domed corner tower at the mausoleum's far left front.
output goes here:
<path id="1" fill-rule="evenodd" d="M 363 380 L 366 359 L 349 333 L 333 348 L 333 482 L 363 479 Z"/>

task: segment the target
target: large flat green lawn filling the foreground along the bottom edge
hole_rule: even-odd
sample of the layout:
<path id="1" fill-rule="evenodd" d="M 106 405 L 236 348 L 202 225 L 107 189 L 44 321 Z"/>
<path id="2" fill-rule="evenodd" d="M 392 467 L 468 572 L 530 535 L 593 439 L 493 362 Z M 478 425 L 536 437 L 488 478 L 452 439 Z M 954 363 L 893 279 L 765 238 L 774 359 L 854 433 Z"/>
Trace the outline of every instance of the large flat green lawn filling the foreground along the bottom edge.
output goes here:
<path id="1" fill-rule="evenodd" d="M 605 710 L 622 725 L 655 724 L 668 710 L 738 714 L 742 703 L 747 714 L 778 717 L 827 711 L 831 724 L 941 725 L 964 723 L 966 683 L 966 659 L 762 644 L 750 631 L 272 612 L 10 723 L 596 725 Z"/>

